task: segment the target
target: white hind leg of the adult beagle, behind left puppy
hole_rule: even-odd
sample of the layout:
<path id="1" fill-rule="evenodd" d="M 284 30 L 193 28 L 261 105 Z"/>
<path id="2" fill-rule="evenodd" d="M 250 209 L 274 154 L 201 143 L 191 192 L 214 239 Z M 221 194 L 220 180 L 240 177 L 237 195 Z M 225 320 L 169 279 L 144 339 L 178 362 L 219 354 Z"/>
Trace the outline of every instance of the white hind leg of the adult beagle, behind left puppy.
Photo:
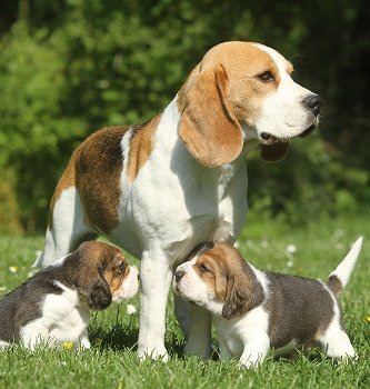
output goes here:
<path id="1" fill-rule="evenodd" d="M 51 209 L 46 246 L 34 267 L 46 267 L 77 249 L 83 241 L 96 239 L 98 233 L 83 217 L 82 203 L 76 187 L 62 191 Z"/>

